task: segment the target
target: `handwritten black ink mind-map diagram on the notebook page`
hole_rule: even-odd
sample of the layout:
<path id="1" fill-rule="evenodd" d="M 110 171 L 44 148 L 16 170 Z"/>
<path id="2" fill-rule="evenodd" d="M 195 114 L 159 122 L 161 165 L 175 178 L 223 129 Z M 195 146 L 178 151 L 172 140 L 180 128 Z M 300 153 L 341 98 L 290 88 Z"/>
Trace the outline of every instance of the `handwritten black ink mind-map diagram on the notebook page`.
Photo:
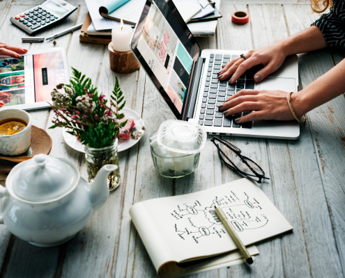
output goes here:
<path id="1" fill-rule="evenodd" d="M 220 206 L 233 227 L 238 232 L 260 229 L 268 223 L 268 217 L 262 213 L 259 202 L 243 192 L 240 196 L 232 190 L 228 195 L 213 198 L 212 204 L 203 206 L 198 200 L 194 204 L 178 205 L 171 216 L 176 219 L 176 236 L 182 240 L 194 240 L 199 243 L 203 237 L 222 238 L 225 231 L 220 218 L 215 213 L 215 204 Z"/>

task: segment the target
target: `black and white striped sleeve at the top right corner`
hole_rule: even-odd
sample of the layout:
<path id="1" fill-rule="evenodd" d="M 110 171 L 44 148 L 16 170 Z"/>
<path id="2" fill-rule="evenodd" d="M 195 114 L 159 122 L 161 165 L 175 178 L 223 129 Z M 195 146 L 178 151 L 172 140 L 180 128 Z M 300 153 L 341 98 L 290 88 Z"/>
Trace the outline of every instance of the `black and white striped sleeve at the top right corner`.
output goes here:
<path id="1" fill-rule="evenodd" d="M 312 25 L 319 27 L 328 45 L 345 50 L 345 1 L 333 0 L 330 13 L 322 15 Z"/>

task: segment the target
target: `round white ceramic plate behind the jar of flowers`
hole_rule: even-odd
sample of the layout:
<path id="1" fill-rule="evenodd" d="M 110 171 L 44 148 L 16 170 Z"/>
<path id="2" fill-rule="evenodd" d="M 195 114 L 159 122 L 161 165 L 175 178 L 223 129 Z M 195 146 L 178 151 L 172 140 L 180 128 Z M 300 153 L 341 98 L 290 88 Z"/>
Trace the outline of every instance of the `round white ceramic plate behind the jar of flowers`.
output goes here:
<path id="1" fill-rule="evenodd" d="M 132 111 L 132 109 L 130 108 L 123 108 L 122 111 L 125 114 L 125 117 L 131 117 L 135 120 L 135 126 L 137 127 L 137 131 L 140 131 L 140 129 L 145 125 L 144 121 L 141 119 L 140 115 L 137 112 Z M 66 131 L 67 129 L 62 129 L 62 136 L 66 144 L 78 152 L 85 153 L 84 145 L 82 145 L 82 143 L 79 142 L 75 136 L 70 135 Z M 144 130 L 141 130 L 141 133 L 144 135 Z M 130 138 L 130 140 L 118 140 L 118 152 L 122 152 L 125 149 L 129 149 L 130 147 L 134 146 L 135 144 L 137 144 L 137 142 L 139 142 L 141 137 L 139 137 L 137 140 L 132 138 Z"/>

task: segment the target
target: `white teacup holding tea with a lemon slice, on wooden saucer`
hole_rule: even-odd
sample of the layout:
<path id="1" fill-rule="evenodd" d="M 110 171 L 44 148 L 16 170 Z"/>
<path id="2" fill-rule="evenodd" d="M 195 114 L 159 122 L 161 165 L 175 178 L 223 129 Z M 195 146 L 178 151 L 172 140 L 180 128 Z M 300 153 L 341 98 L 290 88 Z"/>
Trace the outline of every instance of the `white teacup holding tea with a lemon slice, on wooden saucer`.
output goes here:
<path id="1" fill-rule="evenodd" d="M 26 128 L 10 136 L 0 136 L 0 155 L 17 156 L 30 148 L 31 117 L 20 109 L 0 110 L 0 122 L 6 119 L 19 119 L 26 123 Z"/>

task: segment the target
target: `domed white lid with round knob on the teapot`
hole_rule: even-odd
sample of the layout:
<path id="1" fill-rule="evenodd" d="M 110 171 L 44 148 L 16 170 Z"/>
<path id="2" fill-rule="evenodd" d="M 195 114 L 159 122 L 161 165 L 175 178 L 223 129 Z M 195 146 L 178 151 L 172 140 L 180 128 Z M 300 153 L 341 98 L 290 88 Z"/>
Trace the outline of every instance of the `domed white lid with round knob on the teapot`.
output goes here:
<path id="1" fill-rule="evenodd" d="M 23 165 L 13 183 L 13 190 L 27 201 L 47 201 L 70 190 L 77 176 L 72 165 L 59 158 L 38 154 Z"/>

